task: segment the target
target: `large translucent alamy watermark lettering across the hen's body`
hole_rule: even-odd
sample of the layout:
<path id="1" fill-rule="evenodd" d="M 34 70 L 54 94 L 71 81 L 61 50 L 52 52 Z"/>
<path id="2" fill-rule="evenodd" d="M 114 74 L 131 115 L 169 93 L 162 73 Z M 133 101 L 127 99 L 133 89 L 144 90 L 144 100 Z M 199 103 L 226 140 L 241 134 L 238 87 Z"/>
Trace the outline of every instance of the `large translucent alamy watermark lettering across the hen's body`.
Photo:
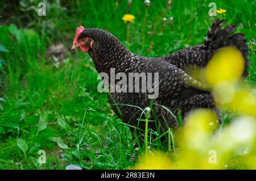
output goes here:
<path id="1" fill-rule="evenodd" d="M 156 99 L 159 95 L 159 73 L 117 73 L 110 69 L 107 73 L 98 74 L 99 92 L 143 92 L 148 93 L 148 99 Z M 104 89 L 104 87 L 106 89 Z"/>

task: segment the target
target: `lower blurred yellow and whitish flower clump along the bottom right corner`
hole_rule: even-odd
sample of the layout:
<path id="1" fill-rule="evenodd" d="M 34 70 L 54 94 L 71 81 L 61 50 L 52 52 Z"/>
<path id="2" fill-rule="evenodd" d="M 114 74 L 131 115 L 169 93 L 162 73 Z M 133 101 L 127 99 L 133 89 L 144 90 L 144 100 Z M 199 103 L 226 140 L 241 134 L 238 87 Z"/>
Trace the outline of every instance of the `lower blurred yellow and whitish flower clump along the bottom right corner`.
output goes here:
<path id="1" fill-rule="evenodd" d="M 216 113 L 210 109 L 192 111 L 184 128 L 175 134 L 178 156 L 152 150 L 142 154 L 131 169 L 255 169 L 255 119 L 241 116 L 215 131 L 216 119 Z"/>

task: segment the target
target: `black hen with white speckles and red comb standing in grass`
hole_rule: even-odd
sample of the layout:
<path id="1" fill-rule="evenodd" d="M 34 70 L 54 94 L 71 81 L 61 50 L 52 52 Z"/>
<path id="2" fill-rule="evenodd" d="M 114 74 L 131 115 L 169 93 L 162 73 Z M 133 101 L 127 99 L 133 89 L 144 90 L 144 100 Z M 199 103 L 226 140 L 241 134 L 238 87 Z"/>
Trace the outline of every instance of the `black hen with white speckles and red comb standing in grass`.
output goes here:
<path id="1" fill-rule="evenodd" d="M 98 73 L 109 75 L 104 81 L 110 82 L 113 68 L 115 75 L 124 73 L 127 77 L 129 73 L 158 73 L 158 79 L 154 77 L 151 80 L 153 87 L 159 87 L 155 99 L 149 97 L 149 91 L 143 92 L 143 80 L 139 85 L 135 85 L 135 79 L 124 88 L 127 91 L 110 91 L 108 98 L 119 118 L 129 125 L 142 129 L 144 129 L 144 121 L 139 121 L 139 118 L 144 118 L 143 109 L 151 105 L 154 110 L 151 112 L 151 120 L 156 121 L 150 122 L 148 126 L 152 129 L 160 127 L 164 131 L 169 127 L 179 127 L 179 123 L 174 119 L 179 112 L 184 118 L 193 109 L 210 108 L 220 115 L 214 105 L 210 87 L 193 78 L 187 68 L 191 66 L 203 68 L 218 49 L 233 46 L 243 55 L 245 64 L 243 76 L 247 77 L 249 61 L 246 60 L 248 47 L 244 35 L 233 34 L 236 27 L 228 25 L 222 28 L 223 24 L 224 20 L 218 19 L 212 24 L 204 44 L 179 50 L 167 57 L 139 56 L 130 52 L 108 31 L 96 28 L 85 29 L 82 26 L 77 28 L 72 49 L 80 48 L 88 52 Z M 114 83 L 117 82 L 118 79 L 115 79 Z M 129 88 L 134 90 L 136 86 L 139 86 L 139 92 L 128 91 Z M 106 87 L 111 89 L 111 85 Z"/>

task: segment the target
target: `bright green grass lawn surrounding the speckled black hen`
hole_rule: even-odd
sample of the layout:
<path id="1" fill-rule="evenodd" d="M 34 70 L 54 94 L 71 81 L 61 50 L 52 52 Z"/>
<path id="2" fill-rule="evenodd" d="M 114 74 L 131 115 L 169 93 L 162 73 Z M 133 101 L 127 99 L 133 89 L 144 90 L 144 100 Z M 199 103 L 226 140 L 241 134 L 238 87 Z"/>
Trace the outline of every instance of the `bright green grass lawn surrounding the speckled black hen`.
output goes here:
<path id="1" fill-rule="evenodd" d="M 238 32 L 245 33 L 251 44 L 255 39 L 256 1 L 215 2 L 217 9 L 227 10 L 228 24 L 238 26 Z M 136 18 L 130 24 L 130 50 L 143 56 L 166 56 L 203 43 L 210 26 L 208 3 L 174 1 L 169 10 L 167 1 L 152 0 L 145 18 L 143 1 L 133 1 L 130 14 Z M 8 50 L 0 52 L 0 169 L 64 169 L 69 164 L 84 169 L 132 166 L 144 147 L 134 149 L 129 126 L 113 115 L 106 95 L 97 91 L 99 80 L 89 55 L 70 50 L 79 25 L 108 30 L 127 46 L 122 21 L 127 1 L 48 2 L 46 17 L 39 17 L 31 5 L 7 4 L 0 9 L 4 23 L 0 45 Z M 49 46 L 57 43 L 67 47 L 59 67 L 45 56 Z M 254 52 L 253 46 L 247 81 L 255 86 Z M 226 117 L 228 121 L 232 115 Z M 152 130 L 148 134 L 150 144 Z M 166 136 L 172 138 L 172 132 Z M 63 140 L 59 145 L 52 141 L 57 137 Z M 16 144 L 19 138 L 28 146 L 24 152 Z M 156 148 L 165 149 L 157 143 Z M 170 142 L 168 145 L 172 149 Z M 46 151 L 46 164 L 39 165 L 39 150 Z"/>

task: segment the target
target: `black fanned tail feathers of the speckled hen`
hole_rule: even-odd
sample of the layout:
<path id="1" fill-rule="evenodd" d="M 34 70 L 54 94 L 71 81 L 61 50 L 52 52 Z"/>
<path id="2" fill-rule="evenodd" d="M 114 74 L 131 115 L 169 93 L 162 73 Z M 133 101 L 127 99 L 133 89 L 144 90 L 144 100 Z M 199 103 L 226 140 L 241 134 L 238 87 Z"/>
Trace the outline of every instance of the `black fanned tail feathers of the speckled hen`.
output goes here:
<path id="1" fill-rule="evenodd" d="M 205 37 L 204 46 L 214 50 L 228 46 L 237 47 L 243 54 L 245 61 L 243 76 L 247 77 L 249 74 L 247 69 L 250 66 L 250 61 L 246 59 L 248 56 L 248 45 L 246 44 L 245 36 L 243 33 L 233 34 L 237 30 L 235 26 L 228 25 L 221 29 L 224 23 L 224 20 L 219 21 L 219 19 L 212 23 Z"/>

